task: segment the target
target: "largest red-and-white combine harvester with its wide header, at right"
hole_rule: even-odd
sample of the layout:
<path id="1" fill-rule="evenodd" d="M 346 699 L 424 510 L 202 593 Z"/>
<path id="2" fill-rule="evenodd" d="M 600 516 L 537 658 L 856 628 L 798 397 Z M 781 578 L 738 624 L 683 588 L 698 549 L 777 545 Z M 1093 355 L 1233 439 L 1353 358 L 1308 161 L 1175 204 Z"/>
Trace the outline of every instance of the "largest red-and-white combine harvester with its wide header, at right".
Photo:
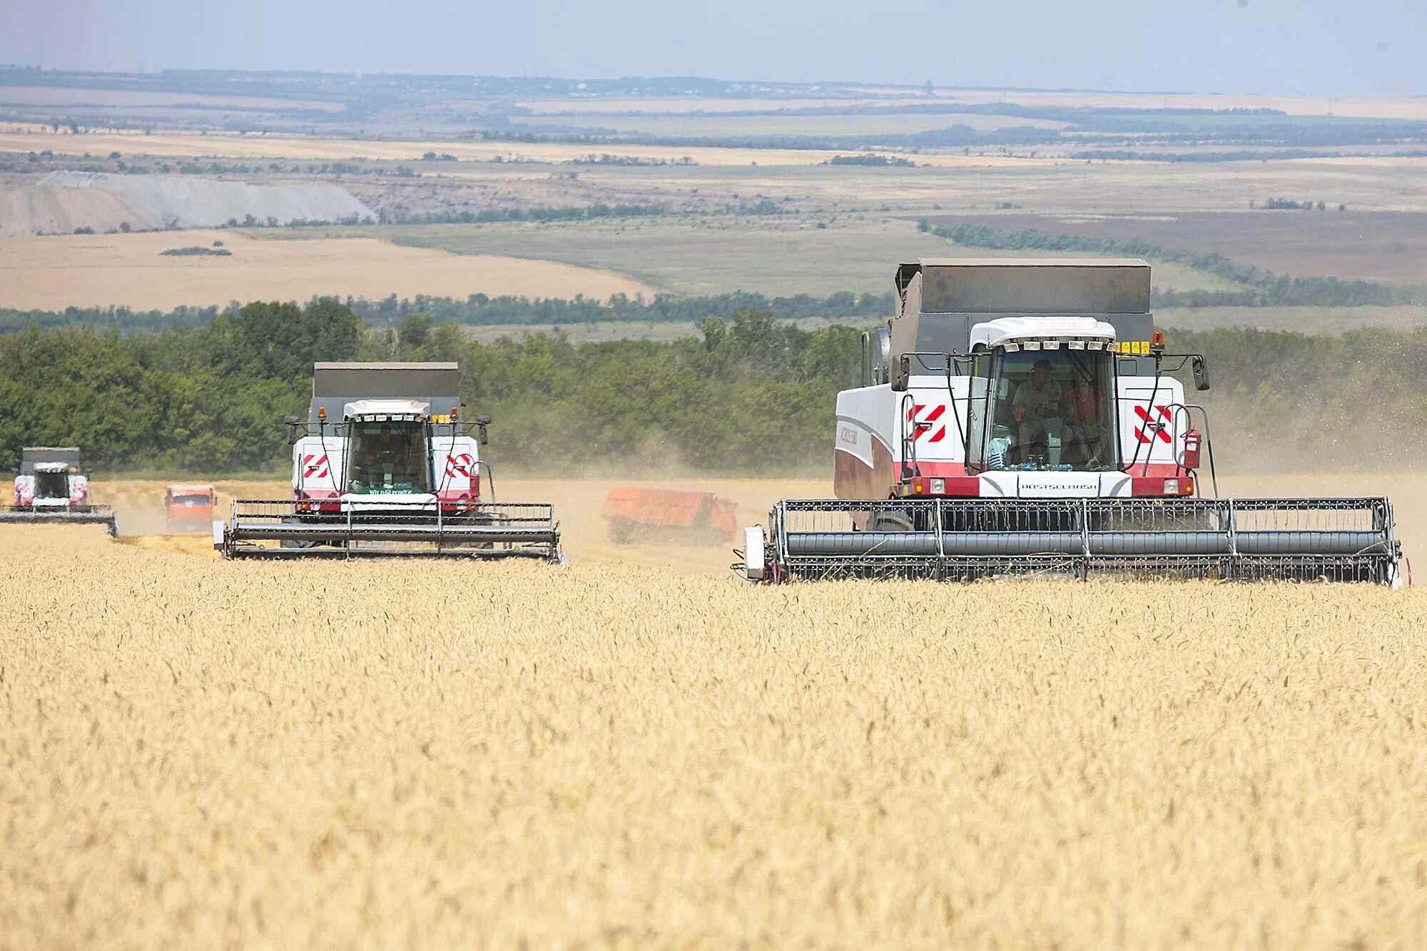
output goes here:
<path id="1" fill-rule="evenodd" d="M 1403 584 L 1387 498 L 1219 497 L 1209 418 L 1166 376 L 1207 390 L 1204 358 L 1166 353 L 1144 261 L 923 260 L 896 293 L 838 394 L 836 498 L 746 528 L 748 580 Z"/>

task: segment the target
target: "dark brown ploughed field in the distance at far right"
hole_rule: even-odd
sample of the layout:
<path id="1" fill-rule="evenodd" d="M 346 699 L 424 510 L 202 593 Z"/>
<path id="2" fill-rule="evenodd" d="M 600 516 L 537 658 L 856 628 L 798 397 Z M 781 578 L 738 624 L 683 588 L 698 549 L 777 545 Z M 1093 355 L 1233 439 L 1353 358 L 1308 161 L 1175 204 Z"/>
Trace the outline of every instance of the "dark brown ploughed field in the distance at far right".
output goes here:
<path id="1" fill-rule="evenodd" d="M 1313 193 L 1291 193 L 1300 200 Z M 1290 197 L 1284 194 L 1281 197 Z M 938 224 L 989 224 L 1092 237 L 1142 238 L 1160 247 L 1217 251 L 1279 274 L 1416 284 L 1427 281 L 1427 213 L 1186 211 L 1164 216 L 987 214 L 933 217 Z"/>

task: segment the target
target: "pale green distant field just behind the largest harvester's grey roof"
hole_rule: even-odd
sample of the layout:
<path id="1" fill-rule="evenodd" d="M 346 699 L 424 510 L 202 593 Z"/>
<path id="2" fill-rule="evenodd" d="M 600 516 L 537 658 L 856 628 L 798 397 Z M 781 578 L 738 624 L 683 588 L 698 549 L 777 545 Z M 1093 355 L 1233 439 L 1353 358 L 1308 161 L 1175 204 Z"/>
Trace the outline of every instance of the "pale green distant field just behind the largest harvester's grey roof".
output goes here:
<path id="1" fill-rule="evenodd" d="M 832 218 L 833 216 L 826 216 Z M 331 234 L 388 237 L 412 247 L 459 254 L 511 254 L 614 270 L 678 294 L 761 291 L 773 297 L 890 288 L 900 261 L 919 257 L 1005 257 L 916 231 L 910 221 L 843 216 L 826 228 L 815 220 L 634 218 L 531 223 L 324 228 Z M 305 237 L 304 230 L 264 230 L 265 238 Z M 1043 254 L 1042 257 L 1065 257 Z M 1182 266 L 1157 266 L 1157 287 L 1229 288 Z"/>

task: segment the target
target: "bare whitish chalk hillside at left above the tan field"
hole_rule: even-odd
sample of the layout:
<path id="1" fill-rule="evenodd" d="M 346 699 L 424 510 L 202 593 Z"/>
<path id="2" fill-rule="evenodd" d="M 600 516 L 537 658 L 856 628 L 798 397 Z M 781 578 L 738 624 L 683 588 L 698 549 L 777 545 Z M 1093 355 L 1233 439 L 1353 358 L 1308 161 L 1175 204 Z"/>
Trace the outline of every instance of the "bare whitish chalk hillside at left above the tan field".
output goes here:
<path id="1" fill-rule="evenodd" d="M 51 171 L 36 180 L 0 178 L 0 237 L 71 234 L 74 228 L 195 228 L 247 216 L 258 221 L 340 221 L 375 214 L 327 183 L 250 184 L 197 176 L 121 176 Z"/>

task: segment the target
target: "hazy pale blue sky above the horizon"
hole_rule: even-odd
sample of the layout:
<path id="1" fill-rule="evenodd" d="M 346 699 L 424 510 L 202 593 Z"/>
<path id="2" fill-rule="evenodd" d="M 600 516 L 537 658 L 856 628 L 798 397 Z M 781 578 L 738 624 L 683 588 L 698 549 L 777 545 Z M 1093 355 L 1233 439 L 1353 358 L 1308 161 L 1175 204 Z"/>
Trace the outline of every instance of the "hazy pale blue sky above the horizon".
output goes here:
<path id="1" fill-rule="evenodd" d="M 1427 0 L 0 0 L 0 63 L 1427 94 Z"/>

